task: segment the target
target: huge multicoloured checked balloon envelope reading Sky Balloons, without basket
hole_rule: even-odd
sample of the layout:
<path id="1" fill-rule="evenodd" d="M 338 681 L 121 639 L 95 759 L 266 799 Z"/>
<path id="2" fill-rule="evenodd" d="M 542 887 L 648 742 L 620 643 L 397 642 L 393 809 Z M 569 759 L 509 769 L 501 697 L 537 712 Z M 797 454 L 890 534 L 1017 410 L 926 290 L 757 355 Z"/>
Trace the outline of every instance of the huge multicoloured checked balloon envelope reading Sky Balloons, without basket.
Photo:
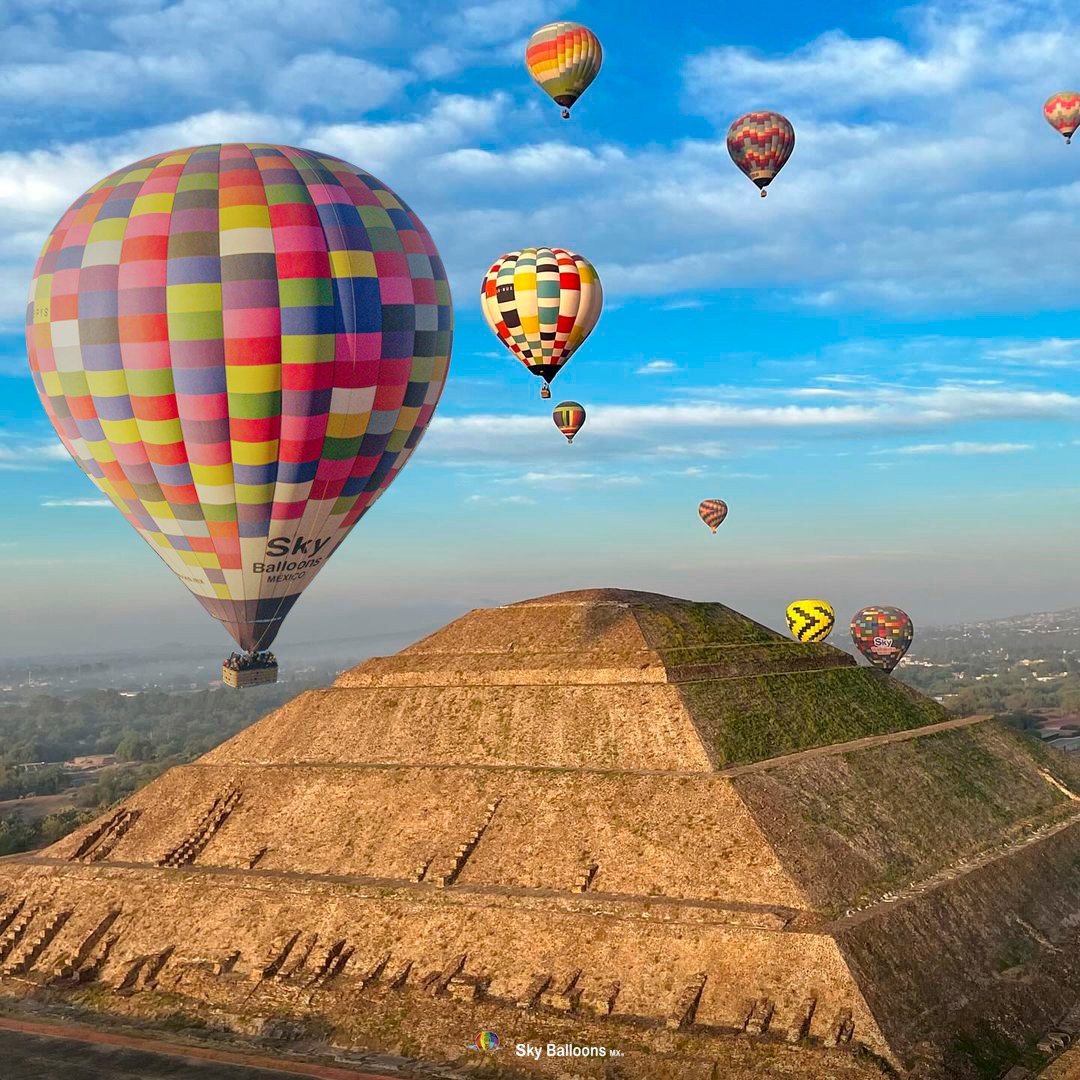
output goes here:
<path id="1" fill-rule="evenodd" d="M 386 185 L 228 144 L 77 199 L 26 339 L 68 453 L 251 659 L 419 443 L 451 318 L 438 253 Z"/>

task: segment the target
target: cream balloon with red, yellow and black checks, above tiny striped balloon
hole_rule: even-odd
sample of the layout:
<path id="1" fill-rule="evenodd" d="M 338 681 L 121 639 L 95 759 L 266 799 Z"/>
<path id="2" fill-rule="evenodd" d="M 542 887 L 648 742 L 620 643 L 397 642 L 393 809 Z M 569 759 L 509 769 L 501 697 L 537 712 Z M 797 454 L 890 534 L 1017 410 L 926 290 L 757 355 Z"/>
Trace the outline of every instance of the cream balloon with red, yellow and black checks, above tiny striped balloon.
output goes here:
<path id="1" fill-rule="evenodd" d="M 589 259 L 562 247 L 526 247 L 503 255 L 481 285 L 481 310 L 499 340 L 549 383 L 592 333 L 604 306 Z"/>

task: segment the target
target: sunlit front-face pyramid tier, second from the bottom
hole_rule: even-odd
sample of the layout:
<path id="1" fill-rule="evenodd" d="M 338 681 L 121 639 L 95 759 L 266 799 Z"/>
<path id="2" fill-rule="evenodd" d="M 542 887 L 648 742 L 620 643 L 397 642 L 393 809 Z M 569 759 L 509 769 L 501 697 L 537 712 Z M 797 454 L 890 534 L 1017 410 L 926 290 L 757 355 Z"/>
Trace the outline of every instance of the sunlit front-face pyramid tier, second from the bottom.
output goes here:
<path id="1" fill-rule="evenodd" d="M 156 865 L 224 793 L 242 794 L 200 865 L 806 906 L 723 777 L 460 768 L 197 765 L 124 806 L 137 821 L 108 860 Z M 495 806 L 496 810 L 490 808 Z M 68 859 L 96 825 L 45 853 Z M 592 873 L 590 874 L 590 868 Z"/>

